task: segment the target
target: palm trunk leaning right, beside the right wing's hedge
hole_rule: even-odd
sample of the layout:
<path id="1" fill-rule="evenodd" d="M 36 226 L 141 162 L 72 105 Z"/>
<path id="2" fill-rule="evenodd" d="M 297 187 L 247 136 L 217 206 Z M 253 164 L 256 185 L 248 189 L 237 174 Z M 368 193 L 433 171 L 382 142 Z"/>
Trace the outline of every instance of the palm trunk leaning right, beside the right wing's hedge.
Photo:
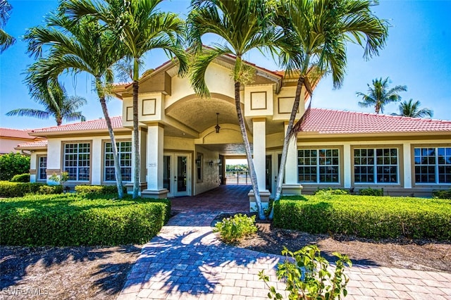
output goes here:
<path id="1" fill-rule="evenodd" d="M 299 80 L 297 80 L 296 94 L 295 94 L 295 102 L 293 103 L 293 107 L 290 114 L 290 120 L 288 120 L 287 132 L 285 132 L 285 138 L 283 139 L 283 148 L 282 148 L 282 157 L 280 158 L 279 172 L 277 175 L 277 185 L 276 185 L 276 195 L 274 196 L 274 202 L 280 200 L 280 196 L 282 196 L 282 185 L 283 185 L 283 177 L 285 175 L 285 165 L 287 163 L 287 154 L 288 154 L 288 145 L 290 144 L 290 139 L 293 137 L 291 135 L 291 131 L 293 126 L 295 125 L 295 118 L 297 114 L 297 109 L 299 108 L 299 102 L 301 101 L 301 91 L 304 86 L 304 77 L 299 76 Z M 274 218 L 274 205 L 271 208 L 271 213 L 269 213 L 269 220 Z"/>

